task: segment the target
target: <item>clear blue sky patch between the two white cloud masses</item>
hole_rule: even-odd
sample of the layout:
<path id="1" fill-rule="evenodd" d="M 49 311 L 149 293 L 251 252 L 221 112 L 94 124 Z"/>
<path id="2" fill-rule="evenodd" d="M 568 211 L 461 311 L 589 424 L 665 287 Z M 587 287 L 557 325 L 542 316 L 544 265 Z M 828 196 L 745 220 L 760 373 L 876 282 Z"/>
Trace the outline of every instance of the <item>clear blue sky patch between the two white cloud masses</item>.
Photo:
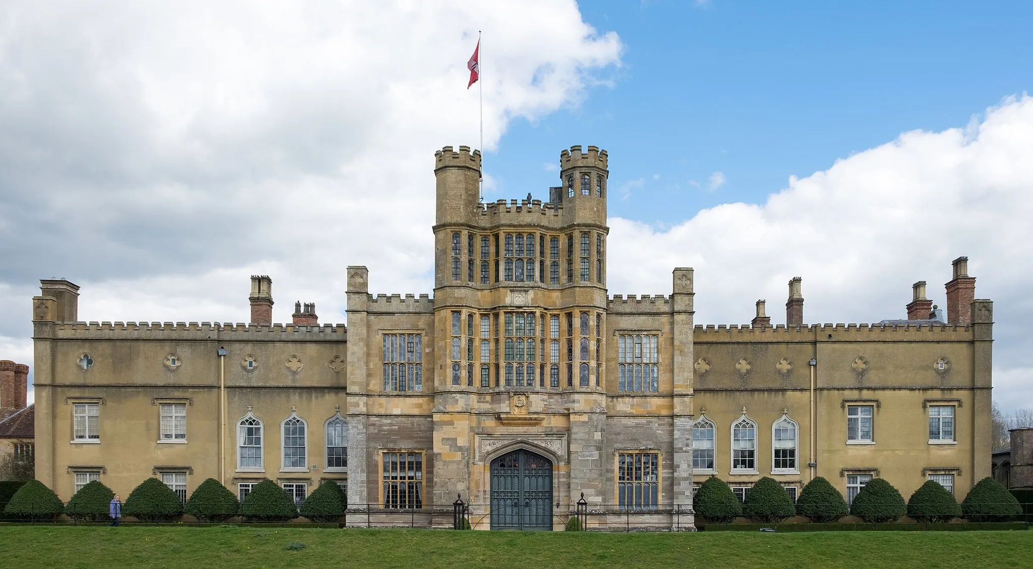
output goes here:
<path id="1" fill-rule="evenodd" d="M 619 68 L 576 106 L 516 119 L 489 153 L 489 199 L 544 196 L 570 145 L 612 156 L 609 214 L 660 226 L 762 202 L 901 132 L 964 126 L 1033 90 L 1030 2 L 585 2 Z M 492 38 L 484 39 L 492 72 Z M 715 171 L 726 182 L 709 190 Z M 638 183 L 638 181 L 641 181 Z M 695 181 L 700 187 L 693 186 Z M 666 207 L 666 204 L 677 204 Z M 664 204 L 658 208 L 657 206 Z M 935 208 L 935 204 L 932 204 Z"/>

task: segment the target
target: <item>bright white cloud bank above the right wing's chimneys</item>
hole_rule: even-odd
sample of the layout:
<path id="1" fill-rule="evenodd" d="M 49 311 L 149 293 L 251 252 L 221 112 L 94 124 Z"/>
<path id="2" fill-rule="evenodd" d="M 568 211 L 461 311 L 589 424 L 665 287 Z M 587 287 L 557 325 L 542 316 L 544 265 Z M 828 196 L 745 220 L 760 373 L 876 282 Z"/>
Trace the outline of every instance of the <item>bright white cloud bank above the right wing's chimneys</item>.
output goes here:
<path id="1" fill-rule="evenodd" d="M 839 160 L 766 202 L 726 203 L 666 230 L 609 220 L 614 292 L 670 290 L 674 266 L 696 270 L 696 322 L 749 322 L 753 303 L 778 310 L 804 278 L 808 322 L 876 322 L 906 316 L 911 283 L 950 279 L 969 257 L 976 296 L 995 301 L 995 399 L 1033 406 L 1027 334 L 1033 320 L 1033 97 L 988 109 L 976 129 L 912 131 Z M 611 166 L 619 167 L 619 157 Z"/>

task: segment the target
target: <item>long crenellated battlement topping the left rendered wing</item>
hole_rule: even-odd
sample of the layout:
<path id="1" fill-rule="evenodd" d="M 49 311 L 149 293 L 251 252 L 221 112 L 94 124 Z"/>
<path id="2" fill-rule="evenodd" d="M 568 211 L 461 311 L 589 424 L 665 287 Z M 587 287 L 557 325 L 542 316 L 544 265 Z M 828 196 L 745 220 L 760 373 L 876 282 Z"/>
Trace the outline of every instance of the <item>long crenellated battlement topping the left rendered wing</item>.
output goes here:
<path id="1" fill-rule="evenodd" d="M 245 324 L 233 322 L 73 322 L 53 326 L 53 338 L 81 340 L 272 340 L 282 342 L 345 342 L 344 324 Z M 45 334 L 45 333 L 44 333 Z M 37 329 L 37 338 L 40 330 Z"/>

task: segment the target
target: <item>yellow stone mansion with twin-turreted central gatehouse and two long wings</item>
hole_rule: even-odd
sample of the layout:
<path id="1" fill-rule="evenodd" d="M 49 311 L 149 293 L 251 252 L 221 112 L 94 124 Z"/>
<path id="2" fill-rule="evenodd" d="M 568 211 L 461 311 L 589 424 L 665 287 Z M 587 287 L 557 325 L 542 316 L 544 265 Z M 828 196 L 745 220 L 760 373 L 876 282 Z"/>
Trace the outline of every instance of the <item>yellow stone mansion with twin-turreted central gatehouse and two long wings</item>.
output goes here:
<path id="1" fill-rule="evenodd" d="M 966 257 L 945 314 L 918 282 L 906 318 L 806 324 L 794 278 L 784 324 L 759 301 L 750 324 L 696 325 L 692 268 L 668 295 L 608 294 L 607 167 L 571 147 L 549 202 L 483 203 L 480 153 L 435 153 L 433 297 L 371 294 L 349 266 L 347 326 L 309 304 L 274 323 L 267 276 L 246 324 L 82 322 L 79 287 L 40 281 L 37 478 L 63 500 L 149 476 L 301 500 L 330 479 L 356 509 L 450 525 L 461 496 L 478 529 L 549 530 L 583 494 L 690 510 L 711 475 L 741 497 L 823 476 L 849 500 L 872 477 L 961 498 L 991 474 L 993 303 Z"/>

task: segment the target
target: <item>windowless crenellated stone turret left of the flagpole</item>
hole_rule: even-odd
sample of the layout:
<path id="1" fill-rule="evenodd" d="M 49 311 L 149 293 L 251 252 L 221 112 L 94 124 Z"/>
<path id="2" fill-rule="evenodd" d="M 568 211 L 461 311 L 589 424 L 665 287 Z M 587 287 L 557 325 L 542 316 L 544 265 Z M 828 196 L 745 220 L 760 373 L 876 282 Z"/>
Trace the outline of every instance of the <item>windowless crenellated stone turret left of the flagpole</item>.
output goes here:
<path id="1" fill-rule="evenodd" d="M 435 223 L 471 223 L 480 210 L 480 151 L 470 147 L 445 147 L 434 153 L 437 178 Z"/>

